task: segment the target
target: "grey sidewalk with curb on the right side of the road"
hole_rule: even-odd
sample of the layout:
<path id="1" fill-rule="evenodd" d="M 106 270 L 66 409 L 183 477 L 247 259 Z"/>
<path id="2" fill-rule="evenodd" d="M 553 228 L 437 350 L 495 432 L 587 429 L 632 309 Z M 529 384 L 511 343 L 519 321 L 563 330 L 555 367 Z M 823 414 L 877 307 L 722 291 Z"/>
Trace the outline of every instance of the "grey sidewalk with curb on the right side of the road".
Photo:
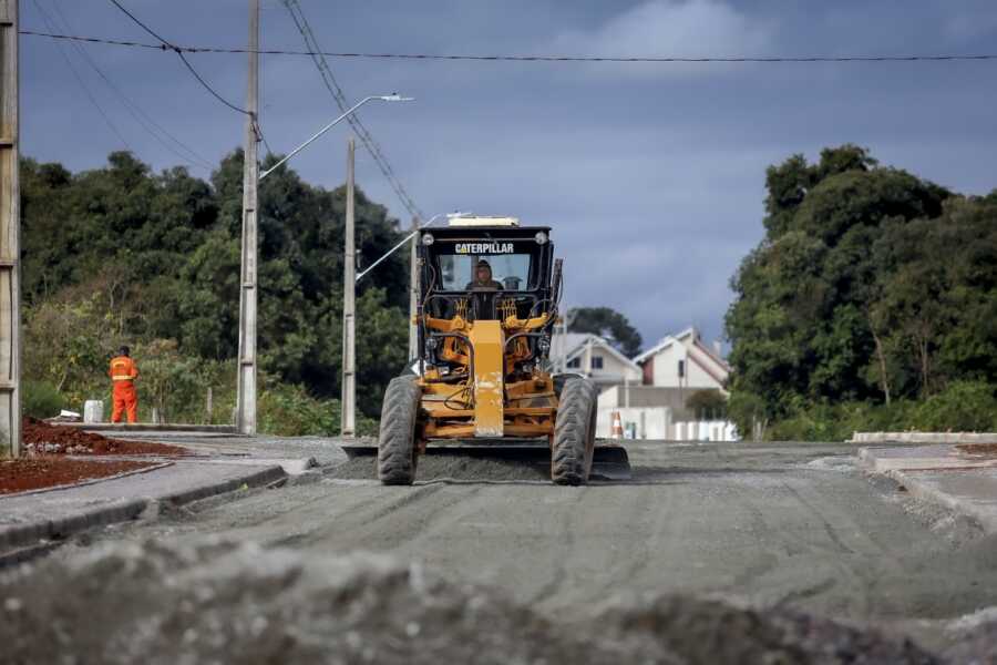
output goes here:
<path id="1" fill-rule="evenodd" d="M 897 452 L 862 448 L 859 459 L 866 473 L 890 478 L 911 497 L 968 518 L 987 534 L 997 533 L 997 469 L 993 461 L 958 460 L 955 446 L 908 449 L 903 451 L 907 460 L 891 458 Z"/>

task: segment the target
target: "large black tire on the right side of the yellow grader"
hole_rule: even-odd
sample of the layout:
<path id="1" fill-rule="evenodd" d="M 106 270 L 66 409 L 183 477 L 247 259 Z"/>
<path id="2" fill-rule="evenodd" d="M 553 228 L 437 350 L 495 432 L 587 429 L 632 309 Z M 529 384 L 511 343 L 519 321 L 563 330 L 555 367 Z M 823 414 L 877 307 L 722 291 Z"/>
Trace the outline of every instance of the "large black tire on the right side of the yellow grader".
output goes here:
<path id="1" fill-rule="evenodd" d="M 555 484 L 588 482 L 595 453 L 596 388 L 588 379 L 573 379 L 561 391 L 551 450 L 551 480 Z"/>

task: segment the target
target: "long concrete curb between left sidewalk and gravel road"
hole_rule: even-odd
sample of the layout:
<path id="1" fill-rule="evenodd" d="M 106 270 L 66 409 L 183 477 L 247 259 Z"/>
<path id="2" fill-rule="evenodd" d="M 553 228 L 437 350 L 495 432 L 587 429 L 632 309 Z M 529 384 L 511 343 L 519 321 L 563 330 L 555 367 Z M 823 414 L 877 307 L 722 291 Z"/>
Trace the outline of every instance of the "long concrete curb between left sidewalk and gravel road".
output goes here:
<path id="1" fill-rule="evenodd" d="M 138 518 L 150 505 L 168 504 L 179 507 L 209 497 L 238 490 L 243 485 L 260 487 L 286 478 L 280 467 L 265 469 L 239 475 L 218 483 L 166 494 L 164 497 L 145 497 L 123 500 L 111 505 L 102 505 L 90 510 L 55 518 L 39 520 L 27 524 L 14 524 L 0 528 L 0 566 L 24 560 L 18 549 L 35 548 L 40 541 L 62 540 L 74 533 L 105 526 L 117 522 L 127 522 Z M 12 551 L 11 551 L 12 550 Z"/>

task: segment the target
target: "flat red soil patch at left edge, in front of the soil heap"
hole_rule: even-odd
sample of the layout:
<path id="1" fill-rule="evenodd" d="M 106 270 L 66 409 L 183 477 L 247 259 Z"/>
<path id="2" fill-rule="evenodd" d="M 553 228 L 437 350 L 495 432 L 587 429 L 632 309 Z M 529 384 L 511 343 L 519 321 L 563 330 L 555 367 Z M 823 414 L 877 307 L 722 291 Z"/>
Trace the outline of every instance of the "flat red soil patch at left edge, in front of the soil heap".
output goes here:
<path id="1" fill-rule="evenodd" d="M 99 462 L 61 457 L 3 460 L 0 461 L 0 494 L 72 484 L 152 466 L 152 462 Z"/>

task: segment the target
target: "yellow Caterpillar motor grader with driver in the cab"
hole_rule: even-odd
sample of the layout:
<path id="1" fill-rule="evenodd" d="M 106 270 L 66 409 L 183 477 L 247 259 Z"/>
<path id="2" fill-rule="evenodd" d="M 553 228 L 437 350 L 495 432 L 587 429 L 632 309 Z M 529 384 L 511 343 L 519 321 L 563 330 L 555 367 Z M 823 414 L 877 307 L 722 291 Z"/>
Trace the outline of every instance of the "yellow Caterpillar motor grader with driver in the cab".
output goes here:
<path id="1" fill-rule="evenodd" d="M 417 236 L 419 358 L 384 393 L 382 483 L 411 484 L 422 454 L 539 462 L 557 484 L 629 477 L 621 447 L 596 446 L 595 383 L 551 371 L 562 259 L 549 234 L 459 216 Z"/>

